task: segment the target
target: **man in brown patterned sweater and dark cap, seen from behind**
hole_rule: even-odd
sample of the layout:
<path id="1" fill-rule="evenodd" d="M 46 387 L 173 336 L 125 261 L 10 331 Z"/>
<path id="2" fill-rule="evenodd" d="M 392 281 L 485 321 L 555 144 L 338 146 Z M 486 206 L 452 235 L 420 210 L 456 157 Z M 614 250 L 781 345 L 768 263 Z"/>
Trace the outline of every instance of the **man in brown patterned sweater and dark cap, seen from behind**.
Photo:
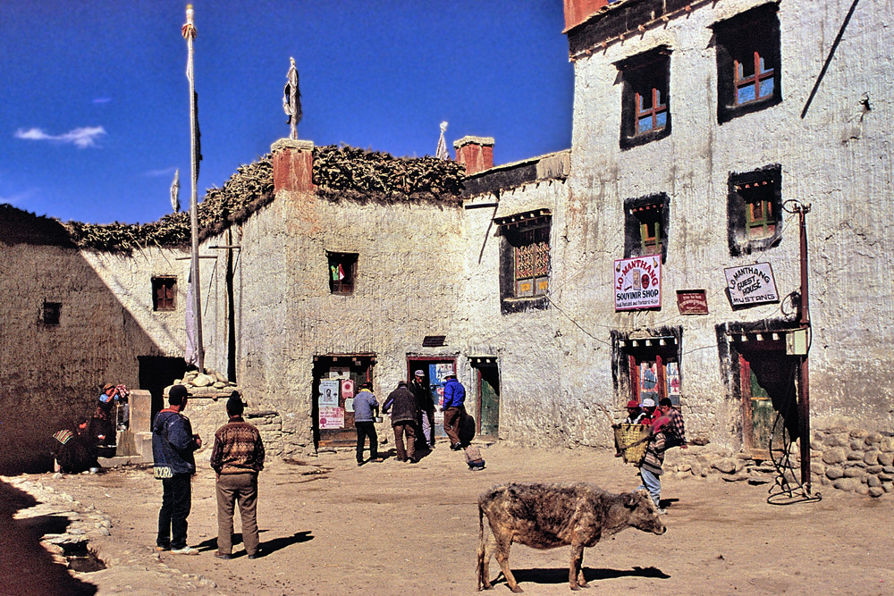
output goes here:
<path id="1" fill-rule="evenodd" d="M 239 393 L 226 402 L 230 422 L 215 432 L 211 467 L 217 473 L 216 558 L 232 558 L 232 514 L 239 503 L 242 543 L 249 558 L 260 556 L 257 533 L 257 473 L 264 469 L 264 443 L 257 428 L 242 419 Z"/>

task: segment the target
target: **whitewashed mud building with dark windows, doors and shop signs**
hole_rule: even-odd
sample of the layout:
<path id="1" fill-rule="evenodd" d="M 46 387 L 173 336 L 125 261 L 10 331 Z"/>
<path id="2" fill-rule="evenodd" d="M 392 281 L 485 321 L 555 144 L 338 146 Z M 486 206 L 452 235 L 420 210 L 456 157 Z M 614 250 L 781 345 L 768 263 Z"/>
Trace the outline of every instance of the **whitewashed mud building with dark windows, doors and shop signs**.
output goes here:
<path id="1" fill-rule="evenodd" d="M 568 151 L 493 166 L 494 140 L 466 137 L 457 165 L 283 139 L 203 203 L 206 364 L 266 413 L 273 452 L 350 438 L 357 384 L 384 395 L 419 368 L 456 370 L 502 440 L 609 446 L 628 399 L 667 396 L 690 439 L 766 449 L 777 412 L 802 422 L 805 348 L 817 432 L 890 431 L 890 5 L 565 9 Z M 38 449 L 108 379 L 157 401 L 183 373 L 185 237 L 122 251 L 0 215 L 19 440 Z"/>

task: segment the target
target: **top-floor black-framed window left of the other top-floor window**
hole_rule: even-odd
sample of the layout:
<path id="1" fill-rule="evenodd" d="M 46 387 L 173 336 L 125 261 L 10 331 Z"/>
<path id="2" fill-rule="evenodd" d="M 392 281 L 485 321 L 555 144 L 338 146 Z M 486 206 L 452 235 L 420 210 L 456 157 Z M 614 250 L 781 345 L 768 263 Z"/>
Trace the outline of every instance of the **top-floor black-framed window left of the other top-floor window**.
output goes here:
<path id="1" fill-rule="evenodd" d="M 666 46 L 615 64 L 623 80 L 620 147 L 671 134 L 671 50 Z"/>

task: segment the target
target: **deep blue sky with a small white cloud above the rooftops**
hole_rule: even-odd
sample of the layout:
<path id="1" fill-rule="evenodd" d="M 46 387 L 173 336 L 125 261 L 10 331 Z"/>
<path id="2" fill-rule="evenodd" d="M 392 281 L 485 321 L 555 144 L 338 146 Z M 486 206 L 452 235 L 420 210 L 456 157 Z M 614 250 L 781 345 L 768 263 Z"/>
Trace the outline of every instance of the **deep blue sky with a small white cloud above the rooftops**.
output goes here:
<path id="1" fill-rule="evenodd" d="M 186 2 L 0 3 L 0 203 L 62 221 L 151 222 L 189 204 Z M 192 3 L 204 160 L 199 197 L 288 136 L 434 155 L 493 137 L 504 164 L 570 147 L 561 0 Z"/>

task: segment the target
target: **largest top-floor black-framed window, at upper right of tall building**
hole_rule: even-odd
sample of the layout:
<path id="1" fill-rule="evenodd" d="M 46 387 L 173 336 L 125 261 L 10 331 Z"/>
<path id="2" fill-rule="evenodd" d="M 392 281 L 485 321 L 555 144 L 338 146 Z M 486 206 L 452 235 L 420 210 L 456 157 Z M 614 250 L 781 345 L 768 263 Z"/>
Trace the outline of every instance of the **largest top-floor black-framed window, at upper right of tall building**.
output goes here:
<path id="1" fill-rule="evenodd" d="M 764 4 L 713 26 L 717 47 L 717 122 L 782 101 L 780 23 Z"/>

